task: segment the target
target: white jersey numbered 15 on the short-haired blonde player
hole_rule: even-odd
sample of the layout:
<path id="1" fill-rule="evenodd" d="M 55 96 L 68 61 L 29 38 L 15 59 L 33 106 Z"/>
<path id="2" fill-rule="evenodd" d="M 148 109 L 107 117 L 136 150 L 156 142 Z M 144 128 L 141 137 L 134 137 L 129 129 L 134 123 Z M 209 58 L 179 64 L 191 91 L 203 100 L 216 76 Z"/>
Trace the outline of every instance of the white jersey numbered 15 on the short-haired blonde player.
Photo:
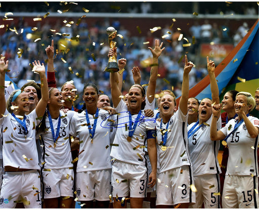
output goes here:
<path id="1" fill-rule="evenodd" d="M 255 127 L 259 127 L 258 118 L 248 116 Z M 230 120 L 220 131 L 228 136 L 234 130 L 237 121 Z M 258 176 L 257 148 L 258 135 L 251 138 L 243 122 L 227 139 L 229 159 L 226 174 Z"/>

